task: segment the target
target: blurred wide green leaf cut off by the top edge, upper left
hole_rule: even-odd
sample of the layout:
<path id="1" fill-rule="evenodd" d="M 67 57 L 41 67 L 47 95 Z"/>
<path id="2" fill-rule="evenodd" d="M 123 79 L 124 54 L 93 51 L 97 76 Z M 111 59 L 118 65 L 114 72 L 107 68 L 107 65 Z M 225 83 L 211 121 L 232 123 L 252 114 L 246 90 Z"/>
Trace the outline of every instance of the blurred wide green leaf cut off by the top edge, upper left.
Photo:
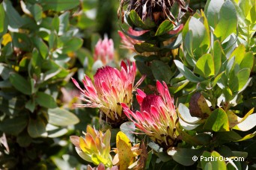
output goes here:
<path id="1" fill-rule="evenodd" d="M 71 10 L 79 6 L 79 0 L 41 0 L 43 10 L 55 10 L 61 12 L 63 10 Z"/>

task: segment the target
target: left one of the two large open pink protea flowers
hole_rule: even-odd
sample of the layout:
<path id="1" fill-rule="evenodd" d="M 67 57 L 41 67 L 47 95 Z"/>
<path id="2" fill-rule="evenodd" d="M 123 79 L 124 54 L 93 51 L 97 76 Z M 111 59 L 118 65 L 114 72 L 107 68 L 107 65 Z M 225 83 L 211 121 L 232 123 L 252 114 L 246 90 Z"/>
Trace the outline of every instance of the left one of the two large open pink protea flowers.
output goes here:
<path id="1" fill-rule="evenodd" d="M 127 116 L 123 113 L 121 103 L 130 107 L 132 103 L 132 90 L 144 80 L 144 76 L 133 86 L 136 75 L 135 62 L 128 66 L 121 62 L 121 71 L 105 66 L 97 70 L 94 75 L 94 84 L 87 75 L 82 89 L 77 81 L 72 78 L 73 83 L 80 89 L 82 97 L 80 99 L 86 104 L 75 104 L 76 107 L 97 107 L 103 113 L 103 119 L 110 125 L 118 126 L 125 122 Z"/>

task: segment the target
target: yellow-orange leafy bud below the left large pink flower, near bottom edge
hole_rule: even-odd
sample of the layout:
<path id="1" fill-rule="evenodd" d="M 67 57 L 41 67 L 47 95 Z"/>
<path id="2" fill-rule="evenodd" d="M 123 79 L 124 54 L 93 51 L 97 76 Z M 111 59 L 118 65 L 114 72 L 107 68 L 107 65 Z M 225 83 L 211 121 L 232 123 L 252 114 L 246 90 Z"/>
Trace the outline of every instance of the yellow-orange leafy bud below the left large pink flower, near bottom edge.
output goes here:
<path id="1" fill-rule="evenodd" d="M 112 167 L 112 157 L 110 152 L 110 130 L 106 133 L 95 130 L 91 126 L 87 126 L 85 138 L 82 136 L 70 136 L 73 145 L 76 146 L 76 152 L 82 159 L 99 165 L 103 163 L 106 167 Z"/>

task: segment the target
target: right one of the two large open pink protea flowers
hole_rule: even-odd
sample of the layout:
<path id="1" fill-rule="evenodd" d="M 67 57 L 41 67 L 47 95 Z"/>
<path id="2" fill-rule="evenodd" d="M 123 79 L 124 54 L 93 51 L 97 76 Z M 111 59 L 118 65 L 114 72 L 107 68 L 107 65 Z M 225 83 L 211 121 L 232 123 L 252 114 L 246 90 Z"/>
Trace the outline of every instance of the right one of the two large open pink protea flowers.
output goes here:
<path id="1" fill-rule="evenodd" d="M 121 104 L 124 113 L 134 122 L 138 129 L 150 136 L 154 142 L 163 148 L 176 145 L 177 142 L 177 113 L 173 99 L 168 92 L 165 82 L 156 82 L 159 95 L 146 95 L 141 89 L 137 89 L 136 95 L 141 110 L 132 112 L 127 104 Z"/>

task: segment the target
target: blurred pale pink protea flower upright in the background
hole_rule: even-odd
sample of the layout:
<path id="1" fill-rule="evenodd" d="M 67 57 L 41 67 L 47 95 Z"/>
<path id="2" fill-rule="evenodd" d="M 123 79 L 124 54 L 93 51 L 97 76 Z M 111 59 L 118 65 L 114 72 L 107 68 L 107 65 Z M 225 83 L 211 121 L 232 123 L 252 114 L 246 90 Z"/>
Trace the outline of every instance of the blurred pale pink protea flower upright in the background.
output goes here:
<path id="1" fill-rule="evenodd" d="M 103 66 L 114 59 L 114 42 L 107 36 L 99 40 L 94 48 L 94 60 L 101 60 Z"/>

